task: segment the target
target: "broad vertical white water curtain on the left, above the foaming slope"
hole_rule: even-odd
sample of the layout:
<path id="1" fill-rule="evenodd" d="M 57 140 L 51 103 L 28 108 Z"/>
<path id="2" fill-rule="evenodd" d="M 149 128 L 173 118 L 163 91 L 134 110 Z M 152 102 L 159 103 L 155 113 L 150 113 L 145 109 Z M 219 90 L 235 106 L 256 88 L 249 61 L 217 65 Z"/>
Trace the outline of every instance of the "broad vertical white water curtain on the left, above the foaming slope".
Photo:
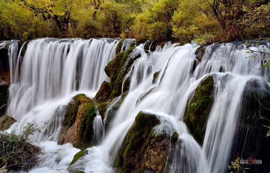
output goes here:
<path id="1" fill-rule="evenodd" d="M 10 106 L 21 118 L 33 107 L 78 90 L 98 90 L 109 78 L 104 67 L 115 56 L 118 40 L 43 38 L 28 43 L 20 67 L 16 43 L 9 47 Z M 15 52 L 15 53 L 14 53 Z"/>

